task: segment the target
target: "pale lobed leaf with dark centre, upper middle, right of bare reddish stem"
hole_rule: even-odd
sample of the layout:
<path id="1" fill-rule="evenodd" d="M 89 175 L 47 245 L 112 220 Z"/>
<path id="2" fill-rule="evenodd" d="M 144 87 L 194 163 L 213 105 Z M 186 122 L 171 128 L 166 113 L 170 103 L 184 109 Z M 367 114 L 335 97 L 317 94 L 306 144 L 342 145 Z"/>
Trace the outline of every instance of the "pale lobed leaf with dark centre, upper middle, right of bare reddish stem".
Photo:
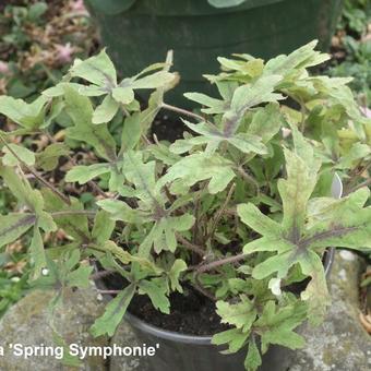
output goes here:
<path id="1" fill-rule="evenodd" d="M 227 96 L 227 100 L 219 100 L 207 97 L 199 93 L 188 93 L 185 96 L 192 100 L 205 104 L 208 109 L 204 109 L 207 113 L 223 113 L 220 128 L 204 121 L 198 124 L 184 121 L 184 123 L 203 139 L 200 144 L 207 144 L 206 152 L 213 154 L 220 143 L 227 142 L 240 149 L 242 153 L 267 154 L 264 145 L 273 135 L 275 135 L 282 127 L 277 100 L 284 97 L 274 93 L 276 85 L 282 81 L 280 75 L 270 75 L 258 79 L 251 84 L 244 84 L 234 89 L 231 99 Z M 266 107 L 262 107 L 256 119 L 252 122 L 248 132 L 238 132 L 246 112 L 260 104 L 270 103 Z M 271 104 L 272 103 L 272 104 Z M 184 148 L 188 144 L 189 149 L 199 144 L 195 139 L 177 141 L 170 147 L 176 153 L 183 153 L 179 147 Z"/>

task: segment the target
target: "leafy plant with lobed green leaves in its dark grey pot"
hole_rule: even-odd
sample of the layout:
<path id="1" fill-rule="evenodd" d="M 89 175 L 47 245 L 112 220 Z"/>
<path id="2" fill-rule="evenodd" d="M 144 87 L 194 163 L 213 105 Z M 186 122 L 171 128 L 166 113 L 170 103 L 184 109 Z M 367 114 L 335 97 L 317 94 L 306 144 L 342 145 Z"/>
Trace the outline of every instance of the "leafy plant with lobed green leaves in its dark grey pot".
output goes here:
<path id="1" fill-rule="evenodd" d="M 331 303 L 327 249 L 371 248 L 369 190 L 356 182 L 371 122 L 348 79 L 309 74 L 328 58 L 314 47 L 224 60 L 208 75 L 219 98 L 187 94 L 200 113 L 164 101 L 178 81 L 170 53 L 118 83 L 103 50 L 31 104 L 2 96 L 17 127 L 0 134 L 0 176 L 19 208 L 1 216 L 0 246 L 31 234 L 36 287 L 87 286 L 88 261 L 95 276 L 115 273 L 116 297 L 92 332 L 111 336 L 127 316 L 160 344 L 154 370 L 256 370 L 271 345 L 302 347 L 296 328 L 320 323 Z M 145 108 L 143 88 L 154 91 Z M 184 118 L 184 139 L 151 135 L 160 109 Z M 15 136 L 46 144 L 35 152 Z M 347 183 L 340 200 L 335 171 Z"/>

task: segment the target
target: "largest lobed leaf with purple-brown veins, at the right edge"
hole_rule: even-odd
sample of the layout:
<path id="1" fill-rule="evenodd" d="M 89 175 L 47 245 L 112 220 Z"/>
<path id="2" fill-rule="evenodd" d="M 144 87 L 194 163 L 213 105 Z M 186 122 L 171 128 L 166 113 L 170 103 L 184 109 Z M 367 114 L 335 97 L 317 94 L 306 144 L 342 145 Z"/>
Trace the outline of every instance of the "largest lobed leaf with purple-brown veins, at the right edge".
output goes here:
<path id="1" fill-rule="evenodd" d="M 273 275 L 285 278 L 299 264 L 302 273 L 311 277 L 302 292 L 302 299 L 309 303 L 310 321 L 320 323 L 330 302 L 321 256 L 331 247 L 371 249 L 371 206 L 363 207 L 370 191 L 360 189 L 342 200 L 321 198 L 321 203 L 313 199 L 313 214 L 308 204 L 318 179 L 315 161 L 304 161 L 287 149 L 285 157 L 287 179 L 278 182 L 284 205 L 282 223 L 270 219 L 252 204 L 238 206 L 242 222 L 262 236 L 247 243 L 243 252 L 276 252 L 253 268 L 255 279 Z"/>

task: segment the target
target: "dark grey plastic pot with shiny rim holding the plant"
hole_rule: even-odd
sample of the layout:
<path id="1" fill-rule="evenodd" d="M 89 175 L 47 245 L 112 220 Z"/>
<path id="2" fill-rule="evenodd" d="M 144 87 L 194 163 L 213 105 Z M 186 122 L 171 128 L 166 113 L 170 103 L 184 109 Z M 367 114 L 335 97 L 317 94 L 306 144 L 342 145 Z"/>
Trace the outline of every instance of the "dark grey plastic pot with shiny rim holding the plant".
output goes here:
<path id="1" fill-rule="evenodd" d="M 324 256 L 325 274 L 328 276 L 334 260 L 334 249 Z M 101 282 L 98 287 L 106 287 Z M 212 345 L 212 336 L 194 336 L 166 331 L 153 326 L 131 313 L 125 320 L 137 336 L 140 344 L 155 346 L 156 355 L 147 358 L 151 371 L 244 371 L 243 361 L 247 349 L 234 355 L 223 355 L 225 348 Z M 286 371 L 282 361 L 287 349 L 272 346 L 263 356 L 261 371 Z M 147 370 L 145 370 L 147 371 Z"/>

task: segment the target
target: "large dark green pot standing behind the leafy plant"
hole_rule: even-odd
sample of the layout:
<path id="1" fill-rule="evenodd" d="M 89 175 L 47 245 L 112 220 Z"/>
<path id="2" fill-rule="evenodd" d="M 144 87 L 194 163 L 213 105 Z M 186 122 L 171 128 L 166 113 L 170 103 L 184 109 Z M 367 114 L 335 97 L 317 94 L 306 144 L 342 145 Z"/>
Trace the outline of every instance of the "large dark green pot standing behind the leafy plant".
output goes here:
<path id="1" fill-rule="evenodd" d="M 168 101 L 182 107 L 184 92 L 217 94 L 202 73 L 218 71 L 217 57 L 247 52 L 263 59 L 310 40 L 330 47 L 340 0 L 85 0 L 103 43 L 123 76 L 175 50 L 182 83 Z M 141 46 L 140 48 L 137 46 Z"/>

